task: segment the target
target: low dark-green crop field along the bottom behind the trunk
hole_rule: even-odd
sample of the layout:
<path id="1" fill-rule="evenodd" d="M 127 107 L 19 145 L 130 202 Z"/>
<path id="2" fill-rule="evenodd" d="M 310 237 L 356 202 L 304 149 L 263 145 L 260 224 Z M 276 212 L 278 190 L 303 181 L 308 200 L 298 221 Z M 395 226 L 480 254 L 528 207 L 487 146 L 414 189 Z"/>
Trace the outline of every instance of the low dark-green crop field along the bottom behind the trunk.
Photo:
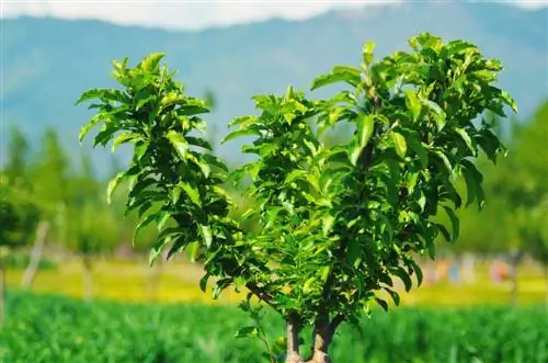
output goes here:
<path id="1" fill-rule="evenodd" d="M 2 363 L 266 362 L 259 341 L 233 338 L 251 322 L 233 307 L 84 303 L 10 292 L 8 310 Z M 283 333 L 274 316 L 264 325 L 272 340 Z M 376 310 L 361 328 L 341 329 L 334 362 L 548 362 L 544 307 Z"/>

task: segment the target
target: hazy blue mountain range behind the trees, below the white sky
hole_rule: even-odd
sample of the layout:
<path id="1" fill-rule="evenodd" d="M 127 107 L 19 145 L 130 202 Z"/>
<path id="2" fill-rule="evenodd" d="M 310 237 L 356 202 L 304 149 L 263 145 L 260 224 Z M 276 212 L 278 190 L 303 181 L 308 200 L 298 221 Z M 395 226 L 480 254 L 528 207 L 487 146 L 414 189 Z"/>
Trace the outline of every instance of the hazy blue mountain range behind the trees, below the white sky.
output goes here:
<path id="1" fill-rule="evenodd" d="M 375 41 L 381 57 L 408 49 L 406 39 L 423 31 L 470 41 L 486 56 L 501 59 L 500 86 L 515 97 L 522 118 L 548 97 L 548 8 L 410 1 L 199 32 L 58 19 L 2 22 L 2 127 L 19 125 L 33 139 L 55 127 L 71 152 L 91 115 L 85 106 L 73 106 L 79 94 L 114 86 L 109 77 L 114 58 L 128 56 L 135 64 L 152 52 L 167 53 L 165 63 L 181 71 L 190 94 L 214 91 L 217 110 L 207 120 L 216 126 L 217 140 L 233 116 L 253 112 L 253 94 L 283 92 L 287 84 L 308 89 L 334 65 L 357 65 L 364 42 Z M 232 143 L 218 150 L 232 162 L 240 160 Z M 104 163 L 105 152 L 93 155 Z"/>

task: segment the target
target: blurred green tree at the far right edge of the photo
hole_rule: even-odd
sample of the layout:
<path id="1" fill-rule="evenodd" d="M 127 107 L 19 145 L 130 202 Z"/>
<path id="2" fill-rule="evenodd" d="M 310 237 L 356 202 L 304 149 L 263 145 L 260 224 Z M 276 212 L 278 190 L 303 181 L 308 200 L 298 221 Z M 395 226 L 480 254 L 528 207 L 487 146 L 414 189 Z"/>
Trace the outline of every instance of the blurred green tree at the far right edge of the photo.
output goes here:
<path id="1" fill-rule="evenodd" d="M 548 208 L 548 101 L 536 112 L 530 122 L 515 124 L 509 156 L 487 180 L 493 195 L 507 208 L 505 229 L 511 238 L 513 288 L 512 302 L 517 298 L 517 269 L 520 258 L 533 256 L 547 268 L 548 240 L 546 215 Z M 548 288 L 548 280 L 547 280 Z M 548 292 L 547 292 L 548 294 Z"/>

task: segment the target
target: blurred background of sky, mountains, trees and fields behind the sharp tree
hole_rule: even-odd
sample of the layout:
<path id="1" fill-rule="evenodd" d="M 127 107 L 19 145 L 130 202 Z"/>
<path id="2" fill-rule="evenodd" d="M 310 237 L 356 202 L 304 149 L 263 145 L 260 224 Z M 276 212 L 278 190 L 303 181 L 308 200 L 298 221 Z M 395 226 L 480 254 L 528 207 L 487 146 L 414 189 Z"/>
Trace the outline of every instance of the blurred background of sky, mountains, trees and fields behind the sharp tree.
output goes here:
<path id="1" fill-rule="evenodd" d="M 490 116 L 507 157 L 479 161 L 482 212 L 460 211 L 459 241 L 441 240 L 435 261 L 420 260 L 423 285 L 402 292 L 393 315 L 364 320 L 363 334 L 344 330 L 335 361 L 548 362 L 546 1 L 1 7 L 0 362 L 264 361 L 260 345 L 232 338 L 247 321 L 232 307 L 244 295 L 213 302 L 184 254 L 149 268 L 156 228 L 132 246 L 137 219 L 124 216 L 124 189 L 106 204 L 107 180 L 132 150 L 80 145 L 92 111 L 73 103 L 89 88 L 115 86 L 113 59 L 165 53 L 187 93 L 213 104 L 208 137 L 237 167 L 238 143 L 218 144 L 232 117 L 253 112 L 253 94 L 306 90 L 334 65 L 357 65 L 364 42 L 375 41 L 380 58 L 409 50 L 407 39 L 424 31 L 475 43 L 504 65 L 499 86 L 520 112 Z M 275 338 L 282 325 L 271 319 Z"/>

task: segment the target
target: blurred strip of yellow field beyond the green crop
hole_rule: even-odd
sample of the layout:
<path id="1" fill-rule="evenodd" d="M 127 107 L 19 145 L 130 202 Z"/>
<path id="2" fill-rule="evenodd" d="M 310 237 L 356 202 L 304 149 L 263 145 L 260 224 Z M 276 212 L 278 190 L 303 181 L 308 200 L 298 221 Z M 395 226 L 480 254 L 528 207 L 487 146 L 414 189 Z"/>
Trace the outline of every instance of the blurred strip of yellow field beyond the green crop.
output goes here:
<path id="1" fill-rule="evenodd" d="M 8 286 L 19 286 L 23 271 L 9 270 Z M 156 290 L 151 283 L 158 279 Z M 182 260 L 149 268 L 142 261 L 96 261 L 93 268 L 93 295 L 114 302 L 206 303 L 227 304 L 239 302 L 243 294 L 226 291 L 218 300 L 213 300 L 210 291 L 202 293 L 198 281 L 199 265 Z M 534 265 L 523 265 L 518 281 L 518 303 L 535 304 L 545 300 L 545 281 L 541 271 Z M 32 290 L 73 297 L 84 296 L 82 266 L 71 260 L 57 263 L 57 269 L 39 271 Z M 400 288 L 401 290 L 401 288 Z M 453 285 L 447 281 L 413 288 L 401 294 L 403 306 L 469 306 L 478 304 L 505 304 L 510 300 L 510 282 L 492 283 L 489 266 L 478 264 L 473 283 Z"/>

